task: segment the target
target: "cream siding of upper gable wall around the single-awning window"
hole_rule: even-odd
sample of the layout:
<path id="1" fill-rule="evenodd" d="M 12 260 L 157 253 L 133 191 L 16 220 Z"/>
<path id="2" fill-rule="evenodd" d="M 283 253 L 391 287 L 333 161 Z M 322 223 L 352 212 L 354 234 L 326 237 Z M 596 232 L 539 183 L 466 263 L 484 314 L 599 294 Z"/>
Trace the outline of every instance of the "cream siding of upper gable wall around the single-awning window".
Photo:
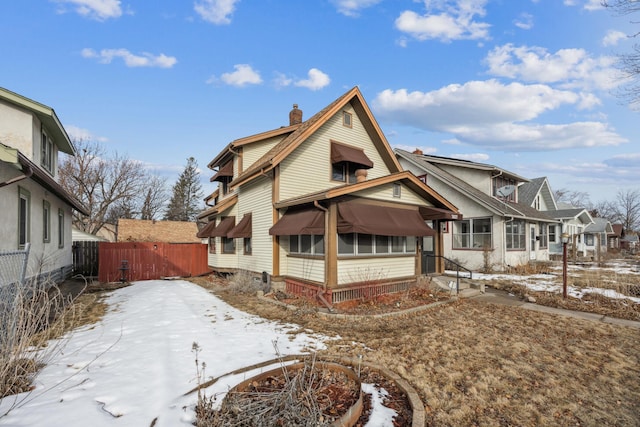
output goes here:
<path id="1" fill-rule="evenodd" d="M 352 114 L 351 128 L 343 126 L 342 111 Z M 282 161 L 280 168 L 281 200 L 313 193 L 318 188 L 344 185 L 343 182 L 331 180 L 331 141 L 364 149 L 364 153 L 373 162 L 373 168 L 367 170 L 367 179 L 379 178 L 390 173 L 360 119 L 355 111 L 349 107 L 330 118 L 317 132 Z"/>

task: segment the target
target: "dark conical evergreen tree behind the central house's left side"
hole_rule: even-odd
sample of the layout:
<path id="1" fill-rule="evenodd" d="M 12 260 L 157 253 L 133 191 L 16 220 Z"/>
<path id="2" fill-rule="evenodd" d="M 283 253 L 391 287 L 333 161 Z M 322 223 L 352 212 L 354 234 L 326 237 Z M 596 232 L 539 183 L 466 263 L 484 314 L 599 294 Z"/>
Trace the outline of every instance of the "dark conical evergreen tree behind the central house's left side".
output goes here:
<path id="1" fill-rule="evenodd" d="M 165 220 L 195 221 L 200 212 L 200 200 L 204 197 L 200 184 L 198 163 L 193 157 L 187 159 L 187 165 L 173 185 L 171 200 L 164 214 Z"/>

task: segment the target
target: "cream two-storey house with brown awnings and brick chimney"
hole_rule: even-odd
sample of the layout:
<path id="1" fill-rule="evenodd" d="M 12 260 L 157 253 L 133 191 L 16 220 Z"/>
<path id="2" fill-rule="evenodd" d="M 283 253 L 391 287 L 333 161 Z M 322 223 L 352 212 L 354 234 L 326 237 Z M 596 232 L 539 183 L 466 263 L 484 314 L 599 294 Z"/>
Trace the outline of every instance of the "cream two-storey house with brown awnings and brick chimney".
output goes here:
<path id="1" fill-rule="evenodd" d="M 219 191 L 198 233 L 209 265 L 268 273 L 291 292 L 334 301 L 345 287 L 415 280 L 427 269 L 423 251 L 442 255 L 441 224 L 459 218 L 402 171 L 357 87 L 306 121 L 294 105 L 288 126 L 231 142 L 209 168 Z"/>

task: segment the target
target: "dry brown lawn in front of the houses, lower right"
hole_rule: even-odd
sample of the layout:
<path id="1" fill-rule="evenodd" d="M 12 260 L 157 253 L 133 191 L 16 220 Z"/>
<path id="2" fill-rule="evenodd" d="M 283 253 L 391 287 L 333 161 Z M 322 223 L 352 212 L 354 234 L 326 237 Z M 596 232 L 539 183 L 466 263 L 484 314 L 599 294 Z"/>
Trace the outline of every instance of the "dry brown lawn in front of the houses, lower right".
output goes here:
<path id="1" fill-rule="evenodd" d="M 363 355 L 397 372 L 425 402 L 427 425 L 640 425 L 637 329 L 474 300 L 325 320 L 207 286 L 242 310 L 340 336 L 323 353 Z"/>

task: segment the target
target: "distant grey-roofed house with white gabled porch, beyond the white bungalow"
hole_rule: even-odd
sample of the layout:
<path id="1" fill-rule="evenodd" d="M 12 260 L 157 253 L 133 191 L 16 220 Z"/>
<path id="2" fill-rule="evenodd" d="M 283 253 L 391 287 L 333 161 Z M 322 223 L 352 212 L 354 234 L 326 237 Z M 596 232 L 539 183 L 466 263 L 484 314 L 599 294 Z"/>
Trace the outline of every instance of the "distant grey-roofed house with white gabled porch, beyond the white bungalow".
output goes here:
<path id="1" fill-rule="evenodd" d="M 518 188 L 520 202 L 531 206 L 556 219 L 559 224 L 549 226 L 549 254 L 562 254 L 562 235 L 568 234 L 568 248 L 572 256 L 586 256 L 587 247 L 584 231 L 593 223 L 593 218 L 585 208 L 577 208 L 557 203 L 546 177 L 534 178 Z M 591 247 L 593 250 L 594 247 Z"/>

